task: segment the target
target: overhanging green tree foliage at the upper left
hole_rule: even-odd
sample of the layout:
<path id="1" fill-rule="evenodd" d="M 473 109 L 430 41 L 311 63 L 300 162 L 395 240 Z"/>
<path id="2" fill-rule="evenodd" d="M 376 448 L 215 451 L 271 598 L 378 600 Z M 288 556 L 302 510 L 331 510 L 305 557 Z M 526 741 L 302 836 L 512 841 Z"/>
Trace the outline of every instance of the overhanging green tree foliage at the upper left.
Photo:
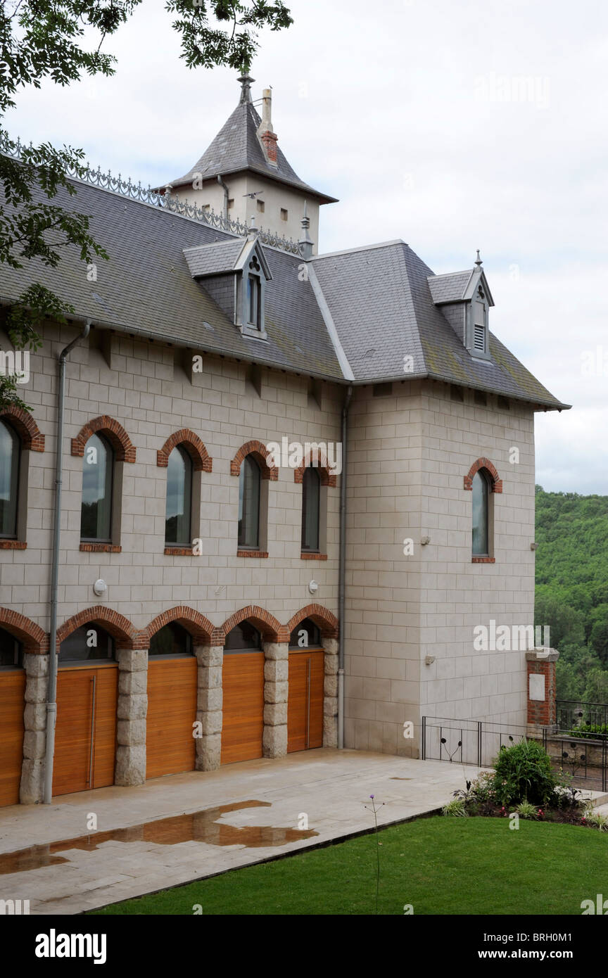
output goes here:
<path id="1" fill-rule="evenodd" d="M 83 75 L 112 75 L 115 58 L 102 46 L 140 3 L 20 0 L 0 5 L 0 117 L 15 107 L 21 89 L 40 88 L 43 79 L 64 86 Z M 181 57 L 188 67 L 247 70 L 258 46 L 256 31 L 292 23 L 281 0 L 170 0 L 165 9 L 177 15 L 173 28 L 181 34 Z M 82 150 L 56 150 L 43 143 L 22 148 L 17 159 L 6 155 L 14 154 L 16 146 L 2 127 L 0 141 L 5 150 L 0 152 L 0 262 L 19 269 L 38 259 L 54 268 L 66 248 L 75 248 L 82 262 L 107 259 L 89 233 L 88 216 L 78 211 L 77 202 L 66 206 L 77 193 L 67 170 L 82 175 Z M 36 349 L 40 323 L 50 317 L 65 322 L 66 313 L 73 313 L 70 305 L 34 284 L 19 297 L 7 324 L 11 342 L 17 349 Z M 17 378 L 0 376 L 0 408 L 7 404 L 27 407 Z"/>

